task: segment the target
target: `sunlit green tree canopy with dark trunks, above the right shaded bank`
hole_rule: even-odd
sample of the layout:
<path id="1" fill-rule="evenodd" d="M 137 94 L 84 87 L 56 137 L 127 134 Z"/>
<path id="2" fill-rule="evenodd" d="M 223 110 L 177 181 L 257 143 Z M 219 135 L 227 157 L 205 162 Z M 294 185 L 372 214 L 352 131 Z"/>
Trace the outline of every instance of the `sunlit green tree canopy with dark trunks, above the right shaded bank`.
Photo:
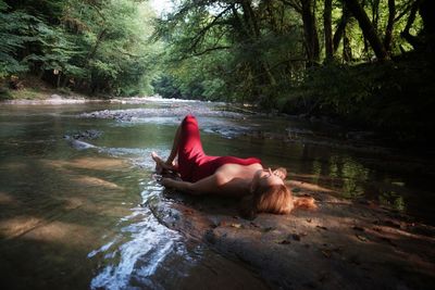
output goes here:
<path id="1" fill-rule="evenodd" d="M 385 61 L 427 47 L 433 24 L 420 15 L 433 12 L 430 2 L 179 1 L 158 22 L 172 68 L 161 85 L 173 79 L 182 96 L 274 105 L 311 67 Z"/>

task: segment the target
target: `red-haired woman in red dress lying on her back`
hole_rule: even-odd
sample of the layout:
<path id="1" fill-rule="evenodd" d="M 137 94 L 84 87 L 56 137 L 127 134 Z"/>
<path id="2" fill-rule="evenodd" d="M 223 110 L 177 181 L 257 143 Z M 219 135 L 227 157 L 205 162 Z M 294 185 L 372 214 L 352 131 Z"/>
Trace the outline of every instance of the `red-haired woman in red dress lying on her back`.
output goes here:
<path id="1" fill-rule="evenodd" d="M 288 214 L 294 207 L 314 209 L 313 198 L 296 198 L 285 186 L 285 168 L 263 168 L 256 157 L 209 156 L 202 150 L 198 122 L 187 115 L 179 125 L 167 160 L 151 154 L 158 174 L 177 173 L 181 178 L 163 177 L 161 185 L 191 194 L 222 194 L 244 198 L 241 213 Z M 175 157 L 178 156 L 177 162 Z"/>

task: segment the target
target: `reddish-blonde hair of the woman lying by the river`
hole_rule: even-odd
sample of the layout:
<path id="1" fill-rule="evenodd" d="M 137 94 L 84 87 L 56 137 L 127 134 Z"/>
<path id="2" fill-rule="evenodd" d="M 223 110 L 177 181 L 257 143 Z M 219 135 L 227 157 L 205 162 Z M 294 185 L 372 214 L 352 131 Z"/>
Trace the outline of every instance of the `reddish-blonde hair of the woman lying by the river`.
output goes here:
<path id="1" fill-rule="evenodd" d="M 258 188 L 241 201 L 241 216 L 254 218 L 258 213 L 289 214 L 293 209 L 314 210 L 311 197 L 294 197 L 285 185 Z"/>

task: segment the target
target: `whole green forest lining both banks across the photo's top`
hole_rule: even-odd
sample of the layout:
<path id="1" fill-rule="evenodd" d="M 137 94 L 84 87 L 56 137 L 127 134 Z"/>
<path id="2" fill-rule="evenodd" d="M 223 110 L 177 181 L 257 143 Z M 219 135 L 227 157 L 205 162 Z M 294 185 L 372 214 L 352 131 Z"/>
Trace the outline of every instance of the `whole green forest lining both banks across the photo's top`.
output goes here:
<path id="1" fill-rule="evenodd" d="M 0 0 L 0 94 L 32 77 L 65 93 L 225 101 L 422 143 L 434 129 L 433 15 L 431 0 L 179 0 L 160 15 L 140 0 Z"/>

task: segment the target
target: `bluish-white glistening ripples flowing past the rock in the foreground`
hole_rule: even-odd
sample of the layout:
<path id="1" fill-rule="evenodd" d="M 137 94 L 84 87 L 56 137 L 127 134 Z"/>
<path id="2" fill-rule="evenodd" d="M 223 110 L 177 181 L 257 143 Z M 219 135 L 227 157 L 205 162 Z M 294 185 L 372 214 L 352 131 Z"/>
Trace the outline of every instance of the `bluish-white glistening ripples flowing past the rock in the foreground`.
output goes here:
<path id="1" fill-rule="evenodd" d="M 158 188 L 149 182 L 141 196 L 147 201 L 156 194 Z M 90 259 L 101 255 L 105 263 L 91 280 L 91 289 L 134 289 L 137 285 L 163 288 L 152 275 L 167 256 L 188 256 L 181 235 L 161 225 L 146 206 L 133 209 L 120 224 L 125 226 L 112 241 L 88 254 Z"/>

